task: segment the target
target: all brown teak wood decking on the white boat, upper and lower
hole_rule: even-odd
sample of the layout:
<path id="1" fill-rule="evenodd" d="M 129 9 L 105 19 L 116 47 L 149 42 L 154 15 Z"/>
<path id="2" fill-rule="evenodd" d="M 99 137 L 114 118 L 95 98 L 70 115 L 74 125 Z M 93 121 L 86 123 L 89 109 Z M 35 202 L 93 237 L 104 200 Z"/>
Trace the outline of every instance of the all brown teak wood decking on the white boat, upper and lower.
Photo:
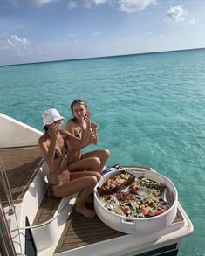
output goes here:
<path id="1" fill-rule="evenodd" d="M 43 163 L 38 146 L 0 149 L 0 156 L 3 159 L 10 190 L 14 203 L 18 203 L 24 197 L 25 191 L 28 189 L 33 178 L 38 173 L 39 167 Z M 3 206 L 8 204 L 3 192 L 3 184 L 0 176 L 0 198 Z M 61 199 L 52 197 L 49 192 L 45 194 L 41 203 L 33 225 L 42 224 L 51 219 L 58 208 Z M 90 206 L 90 207 L 93 207 Z M 180 211 L 174 222 L 182 221 Z M 85 218 L 76 211 L 67 220 L 64 232 L 58 241 L 55 253 L 69 251 L 81 246 L 92 245 L 96 242 L 125 236 L 125 233 L 117 232 L 105 225 L 97 215 L 94 218 Z"/>

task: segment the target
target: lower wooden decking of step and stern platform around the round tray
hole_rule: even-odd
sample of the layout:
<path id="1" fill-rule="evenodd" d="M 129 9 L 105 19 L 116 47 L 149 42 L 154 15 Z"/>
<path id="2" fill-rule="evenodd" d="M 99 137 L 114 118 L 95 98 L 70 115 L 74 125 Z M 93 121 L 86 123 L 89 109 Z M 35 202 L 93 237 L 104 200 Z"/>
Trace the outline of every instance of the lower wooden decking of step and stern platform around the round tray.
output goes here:
<path id="1" fill-rule="evenodd" d="M 47 192 L 40 205 L 33 225 L 42 224 L 45 221 L 50 220 L 57 210 L 59 203 L 59 198 L 52 197 Z M 93 210 L 92 204 L 87 204 L 87 207 L 90 207 Z M 182 220 L 181 212 L 177 211 L 174 223 L 181 222 Z M 85 218 L 73 210 L 67 220 L 64 232 L 58 241 L 55 253 L 70 251 L 81 246 L 92 245 L 96 242 L 105 241 L 106 239 L 114 239 L 124 235 L 126 234 L 117 232 L 105 225 L 97 215 L 95 215 L 94 218 Z"/>

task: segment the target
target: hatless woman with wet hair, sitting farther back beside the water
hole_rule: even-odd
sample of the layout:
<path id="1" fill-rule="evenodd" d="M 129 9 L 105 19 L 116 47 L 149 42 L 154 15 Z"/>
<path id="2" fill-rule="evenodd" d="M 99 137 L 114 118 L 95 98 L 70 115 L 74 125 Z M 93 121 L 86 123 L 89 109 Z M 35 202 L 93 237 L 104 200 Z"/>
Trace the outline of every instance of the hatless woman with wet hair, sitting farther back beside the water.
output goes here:
<path id="1" fill-rule="evenodd" d="M 77 99 L 71 105 L 73 118 L 67 122 L 66 130 L 77 138 L 85 140 L 85 130 L 87 123 L 90 125 L 90 134 L 88 137 L 88 145 L 98 143 L 98 125 L 91 121 L 91 114 L 88 110 L 85 100 Z M 76 150 L 68 156 L 69 170 L 83 170 L 85 166 L 90 166 L 92 158 L 99 159 L 99 173 L 105 166 L 106 160 L 109 157 L 108 149 L 96 149 L 91 152 L 82 153 L 82 150 Z"/>

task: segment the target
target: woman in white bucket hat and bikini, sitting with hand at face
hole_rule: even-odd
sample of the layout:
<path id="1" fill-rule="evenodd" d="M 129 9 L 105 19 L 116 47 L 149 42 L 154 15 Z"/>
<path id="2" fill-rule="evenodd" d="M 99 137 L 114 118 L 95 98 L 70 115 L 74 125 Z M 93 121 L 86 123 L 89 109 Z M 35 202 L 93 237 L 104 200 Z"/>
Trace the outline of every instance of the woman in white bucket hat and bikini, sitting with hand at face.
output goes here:
<path id="1" fill-rule="evenodd" d="M 60 129 L 60 125 L 65 118 L 56 109 L 45 110 L 42 119 L 45 133 L 39 138 L 38 144 L 44 153 L 44 160 L 50 170 L 51 193 L 55 197 L 67 197 L 79 192 L 76 211 L 87 218 L 92 218 L 94 211 L 86 208 L 85 202 L 99 182 L 99 172 L 94 171 L 93 167 L 89 171 L 70 172 L 67 169 L 68 152 L 85 147 L 89 143 L 90 121 L 86 121 L 85 137 L 79 139 Z M 92 164 L 94 167 L 98 167 L 98 159 L 93 158 Z"/>

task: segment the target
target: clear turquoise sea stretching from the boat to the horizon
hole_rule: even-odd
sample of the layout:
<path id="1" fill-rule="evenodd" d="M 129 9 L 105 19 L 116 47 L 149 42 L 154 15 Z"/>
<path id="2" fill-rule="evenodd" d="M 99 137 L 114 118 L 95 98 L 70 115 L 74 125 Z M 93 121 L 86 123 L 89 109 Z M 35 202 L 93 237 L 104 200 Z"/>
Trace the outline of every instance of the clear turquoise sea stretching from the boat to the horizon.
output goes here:
<path id="1" fill-rule="evenodd" d="M 1 113 L 40 130 L 45 108 L 69 119 L 72 100 L 85 99 L 107 165 L 170 178 L 195 227 L 179 255 L 205 255 L 205 49 L 0 66 L 0 92 Z"/>

